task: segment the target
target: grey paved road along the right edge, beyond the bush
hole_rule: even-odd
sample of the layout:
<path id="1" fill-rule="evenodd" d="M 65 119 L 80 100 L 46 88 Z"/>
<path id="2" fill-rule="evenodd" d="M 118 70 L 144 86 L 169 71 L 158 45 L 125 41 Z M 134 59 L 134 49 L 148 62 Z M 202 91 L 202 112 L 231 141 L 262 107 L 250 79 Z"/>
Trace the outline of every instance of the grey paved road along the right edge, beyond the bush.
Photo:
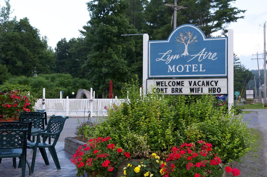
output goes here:
<path id="1" fill-rule="evenodd" d="M 257 128 L 260 130 L 264 144 L 262 151 L 264 151 L 265 161 L 267 163 L 267 109 L 247 109 L 246 111 L 254 111 L 249 114 L 244 114 L 244 121 L 248 122 L 249 128 Z"/>

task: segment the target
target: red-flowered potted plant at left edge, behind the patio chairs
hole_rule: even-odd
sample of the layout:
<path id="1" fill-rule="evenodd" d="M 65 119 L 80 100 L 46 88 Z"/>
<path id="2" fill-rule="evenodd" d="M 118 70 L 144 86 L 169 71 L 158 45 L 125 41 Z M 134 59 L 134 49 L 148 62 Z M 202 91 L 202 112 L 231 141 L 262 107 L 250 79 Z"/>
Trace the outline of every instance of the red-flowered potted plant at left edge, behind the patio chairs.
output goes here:
<path id="1" fill-rule="evenodd" d="M 0 93 L 0 122 L 12 122 L 18 119 L 20 112 L 34 111 L 36 100 L 18 91 Z"/>

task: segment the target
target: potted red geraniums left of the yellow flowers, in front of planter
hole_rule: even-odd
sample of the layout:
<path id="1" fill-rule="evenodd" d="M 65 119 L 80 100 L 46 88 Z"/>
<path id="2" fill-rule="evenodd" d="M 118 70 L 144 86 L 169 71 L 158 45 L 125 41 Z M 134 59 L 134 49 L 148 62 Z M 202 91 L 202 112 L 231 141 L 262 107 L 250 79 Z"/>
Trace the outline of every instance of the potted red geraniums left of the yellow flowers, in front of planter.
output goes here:
<path id="1" fill-rule="evenodd" d="M 70 159 L 76 165 L 77 176 L 91 177 L 111 176 L 114 169 L 122 162 L 123 158 L 129 158 L 130 154 L 111 143 L 111 138 L 90 139 L 84 147 L 80 146 Z"/>

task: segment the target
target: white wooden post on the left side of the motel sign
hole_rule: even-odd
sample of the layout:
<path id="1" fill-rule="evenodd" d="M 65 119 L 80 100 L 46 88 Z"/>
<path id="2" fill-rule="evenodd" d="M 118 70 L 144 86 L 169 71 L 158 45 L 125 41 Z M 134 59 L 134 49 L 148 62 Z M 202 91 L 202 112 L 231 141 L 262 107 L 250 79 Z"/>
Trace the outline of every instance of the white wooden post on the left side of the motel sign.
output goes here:
<path id="1" fill-rule="evenodd" d="M 148 38 L 148 34 L 143 35 L 143 95 L 147 92 Z"/>

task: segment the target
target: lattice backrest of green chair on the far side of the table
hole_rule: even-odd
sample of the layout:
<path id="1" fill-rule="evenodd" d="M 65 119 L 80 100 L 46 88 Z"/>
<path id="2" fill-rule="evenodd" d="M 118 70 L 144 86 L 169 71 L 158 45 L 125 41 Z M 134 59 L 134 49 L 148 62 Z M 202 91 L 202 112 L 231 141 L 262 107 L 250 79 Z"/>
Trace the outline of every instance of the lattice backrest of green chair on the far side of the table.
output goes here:
<path id="1" fill-rule="evenodd" d="M 21 112 L 19 116 L 19 122 L 30 122 L 32 121 L 33 128 L 45 129 L 47 125 L 46 112 Z"/>

